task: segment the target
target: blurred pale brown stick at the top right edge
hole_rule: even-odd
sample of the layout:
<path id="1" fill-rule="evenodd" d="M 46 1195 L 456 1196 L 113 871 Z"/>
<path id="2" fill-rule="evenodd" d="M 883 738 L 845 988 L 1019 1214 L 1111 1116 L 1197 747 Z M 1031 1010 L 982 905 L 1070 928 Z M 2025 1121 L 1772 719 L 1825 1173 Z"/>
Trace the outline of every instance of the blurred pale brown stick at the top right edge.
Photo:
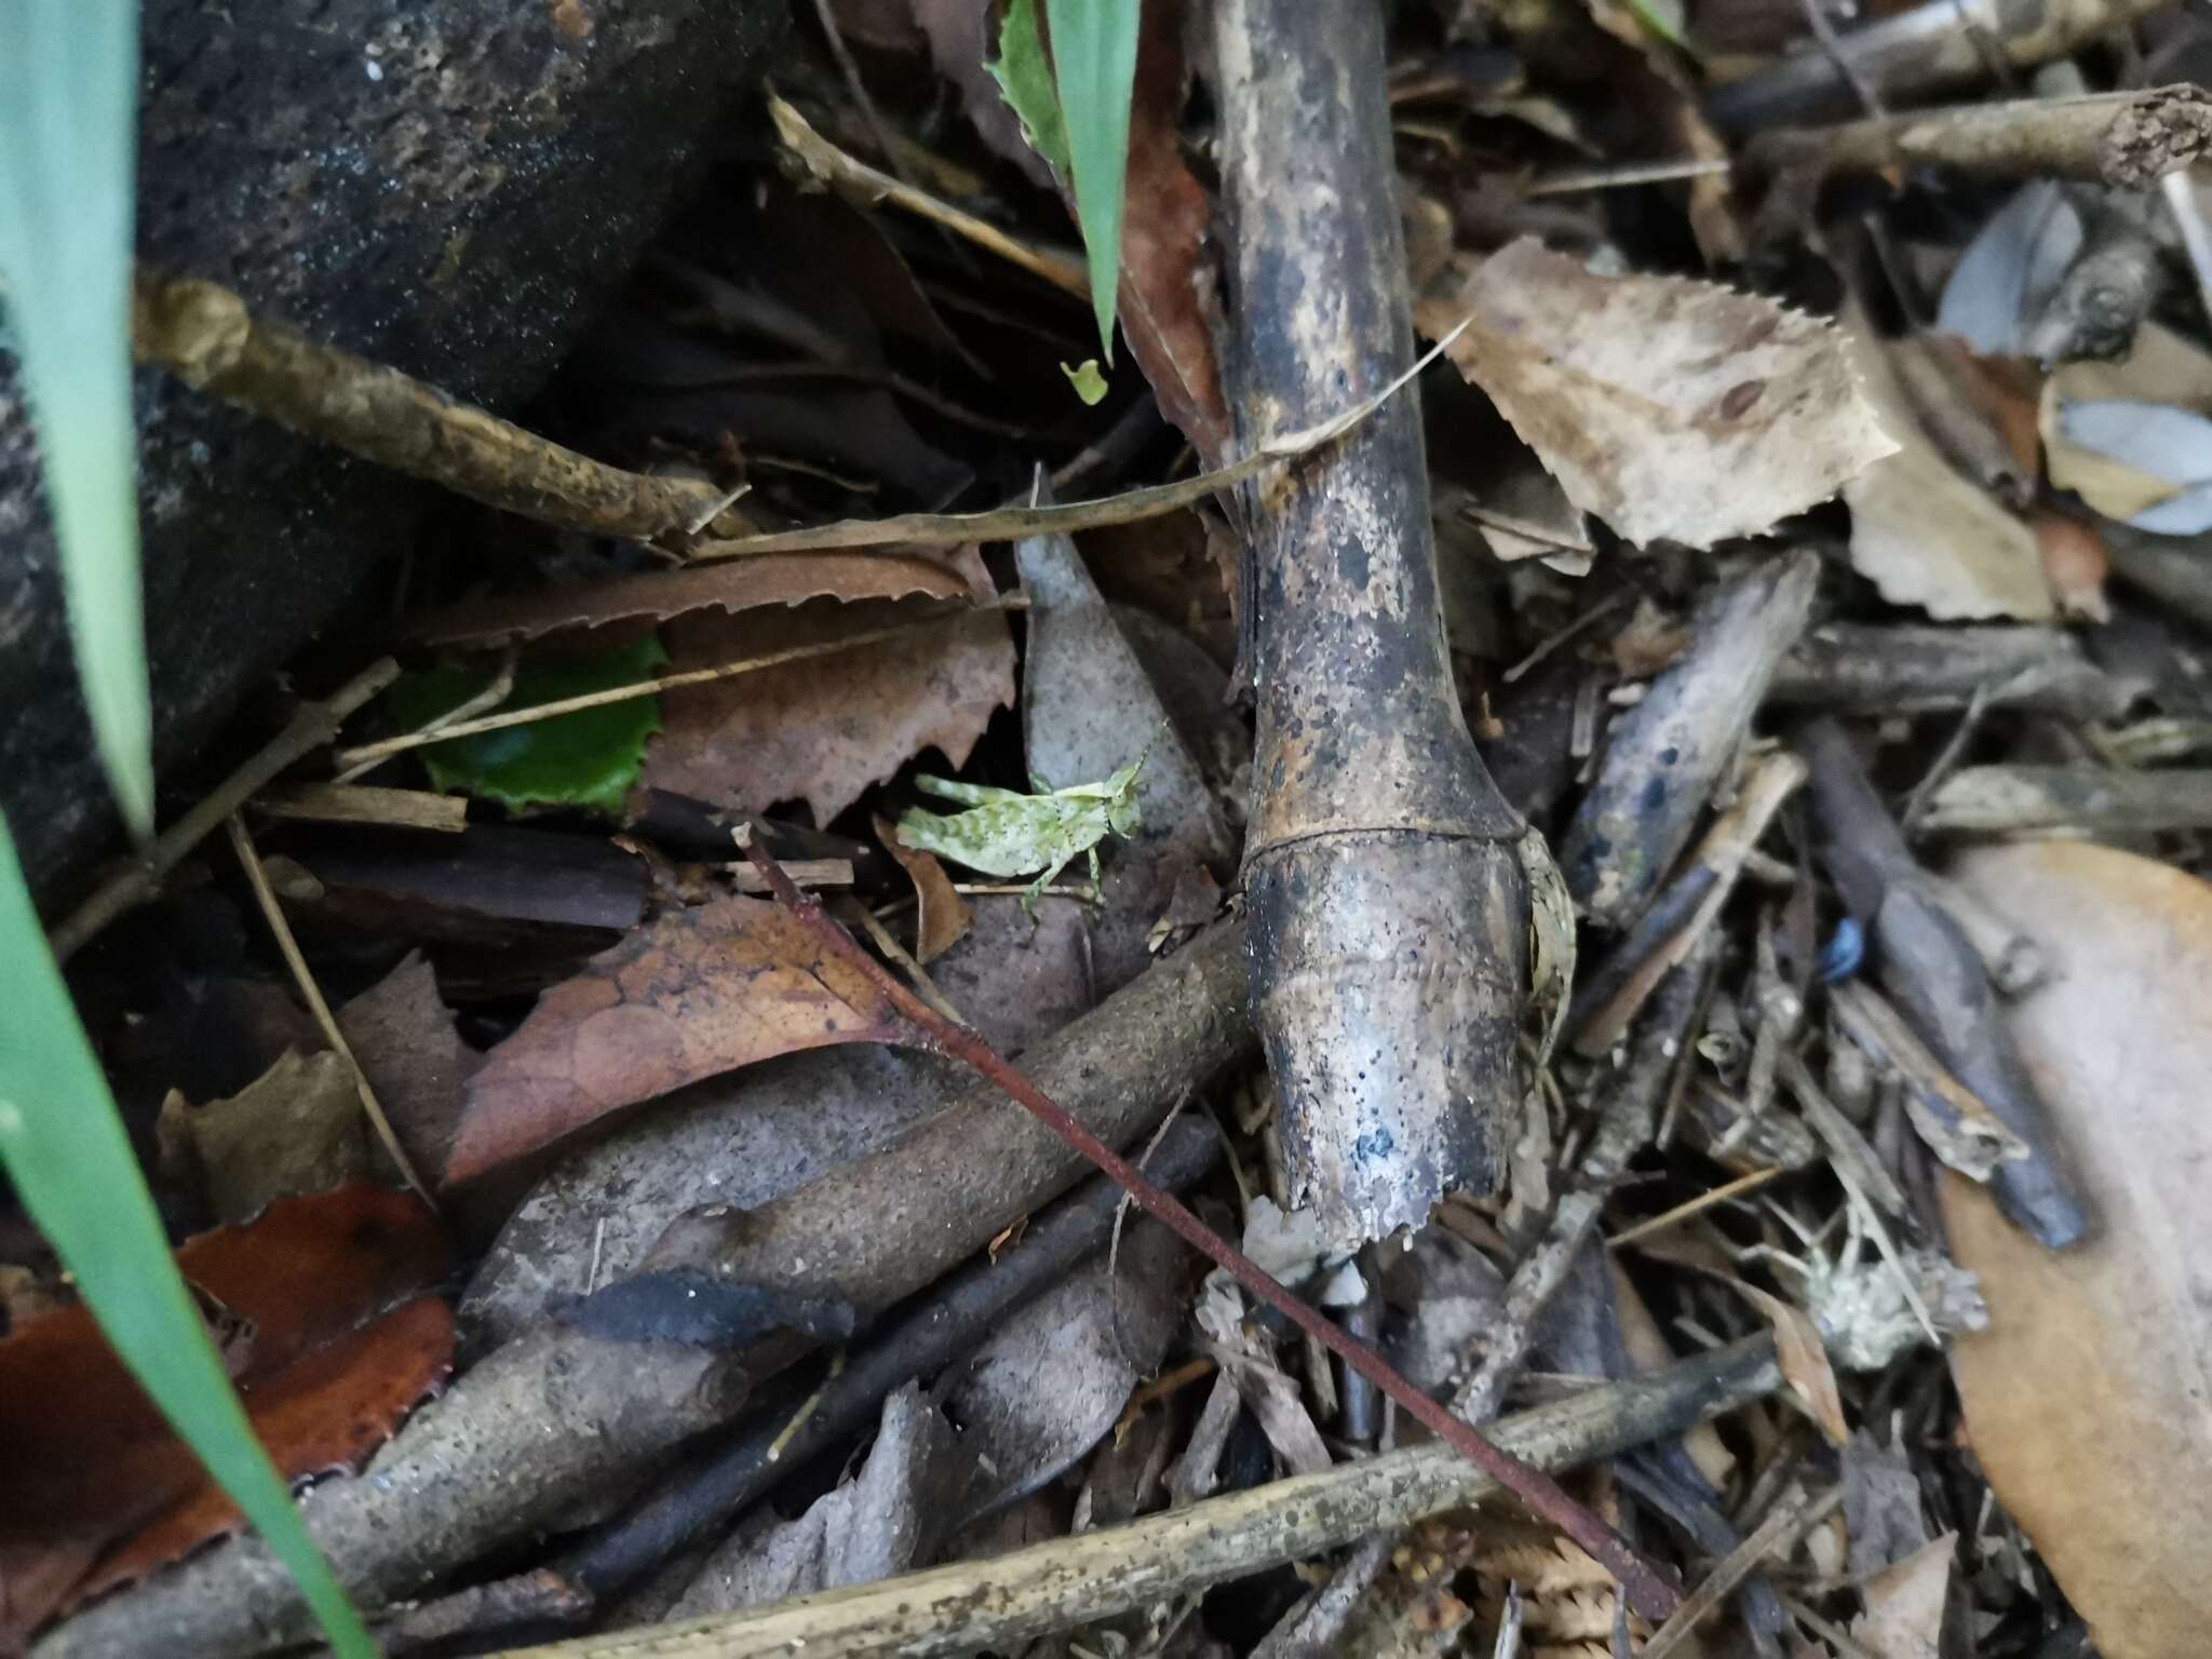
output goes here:
<path id="1" fill-rule="evenodd" d="M 1736 133 L 1825 119 L 1851 108 L 1858 97 L 1854 82 L 1889 102 L 1907 102 L 1942 86 L 1986 80 L 2002 64 L 2028 69 L 2064 58 L 2163 7 L 2166 0 L 2053 0 L 2039 7 L 1929 0 L 1838 35 L 1834 49 L 1825 42 L 1801 44 L 1756 75 L 1712 93 L 1705 113 Z"/>

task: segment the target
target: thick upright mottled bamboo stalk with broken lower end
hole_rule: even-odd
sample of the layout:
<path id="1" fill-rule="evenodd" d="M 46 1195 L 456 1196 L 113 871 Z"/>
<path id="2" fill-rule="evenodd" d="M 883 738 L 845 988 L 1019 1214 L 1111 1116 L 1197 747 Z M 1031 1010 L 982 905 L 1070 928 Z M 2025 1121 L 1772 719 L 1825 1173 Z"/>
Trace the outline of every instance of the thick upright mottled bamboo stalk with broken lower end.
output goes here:
<path id="1" fill-rule="evenodd" d="M 1413 361 L 1374 7 L 1214 9 L 1228 380 L 1256 449 Z M 1254 487 L 1252 1004 L 1294 1199 L 1340 1241 L 1493 1190 L 1522 1104 L 1522 825 L 1460 714 L 1407 396 Z"/>

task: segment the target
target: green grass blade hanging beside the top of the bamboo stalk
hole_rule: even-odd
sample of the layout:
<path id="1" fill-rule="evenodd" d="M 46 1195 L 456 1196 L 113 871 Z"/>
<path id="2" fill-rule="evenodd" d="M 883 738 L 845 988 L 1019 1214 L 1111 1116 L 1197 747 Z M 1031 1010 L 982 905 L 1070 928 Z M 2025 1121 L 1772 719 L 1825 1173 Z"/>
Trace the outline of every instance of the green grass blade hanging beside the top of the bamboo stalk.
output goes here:
<path id="1" fill-rule="evenodd" d="M 1316 0 L 1318 2 L 1318 0 Z M 1046 0 L 1053 77 L 1068 128 L 1075 217 L 1091 259 L 1091 307 L 1113 363 L 1113 310 L 1121 281 L 1121 192 L 1128 181 L 1128 100 L 1137 82 L 1141 0 Z"/>

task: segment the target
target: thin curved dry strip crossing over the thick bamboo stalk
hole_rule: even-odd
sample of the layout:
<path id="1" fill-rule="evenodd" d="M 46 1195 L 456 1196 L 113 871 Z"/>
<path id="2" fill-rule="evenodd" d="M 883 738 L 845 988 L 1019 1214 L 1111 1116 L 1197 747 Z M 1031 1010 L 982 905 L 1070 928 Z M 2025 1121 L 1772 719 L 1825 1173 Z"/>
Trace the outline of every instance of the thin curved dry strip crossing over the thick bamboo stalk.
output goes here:
<path id="1" fill-rule="evenodd" d="M 1057 507 L 1000 507 L 989 513 L 898 513 L 896 518 L 841 518 L 834 524 L 814 524 L 803 531 L 774 531 L 772 535 L 739 535 L 723 542 L 703 542 L 692 549 L 692 560 L 734 560 L 752 553 L 805 553 L 821 546 L 960 546 L 962 542 L 1020 542 L 1031 535 L 1073 535 L 1095 531 L 1106 524 L 1137 524 L 1148 518 L 1197 507 L 1208 495 L 1234 489 L 1267 467 L 1301 460 L 1325 442 L 1334 442 L 1360 425 L 1367 416 L 1398 396 L 1413 376 L 1429 367 L 1438 354 L 1467 332 L 1462 321 L 1444 338 L 1431 345 L 1411 369 L 1400 374 L 1371 398 L 1352 405 L 1343 414 L 1323 420 L 1318 427 L 1292 431 L 1254 449 L 1243 460 L 1219 467 L 1210 473 L 1179 478 L 1172 484 L 1130 489 L 1121 495 L 1106 495 L 1095 502 L 1062 502 Z"/>

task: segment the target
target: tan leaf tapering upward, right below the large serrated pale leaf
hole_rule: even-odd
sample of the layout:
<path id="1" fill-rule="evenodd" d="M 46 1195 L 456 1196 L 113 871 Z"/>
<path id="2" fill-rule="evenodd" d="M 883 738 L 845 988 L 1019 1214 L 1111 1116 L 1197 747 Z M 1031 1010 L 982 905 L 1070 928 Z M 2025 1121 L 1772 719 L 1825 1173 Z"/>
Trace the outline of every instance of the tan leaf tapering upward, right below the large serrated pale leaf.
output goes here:
<path id="1" fill-rule="evenodd" d="M 1851 507 L 1851 566 L 1891 604 L 1920 606 L 1940 622 L 2048 622 L 2053 604 L 2035 531 L 1951 469 L 1913 418 L 1887 352 L 1871 341 L 1858 345 L 1867 400 L 1896 453 L 1843 487 Z"/>

